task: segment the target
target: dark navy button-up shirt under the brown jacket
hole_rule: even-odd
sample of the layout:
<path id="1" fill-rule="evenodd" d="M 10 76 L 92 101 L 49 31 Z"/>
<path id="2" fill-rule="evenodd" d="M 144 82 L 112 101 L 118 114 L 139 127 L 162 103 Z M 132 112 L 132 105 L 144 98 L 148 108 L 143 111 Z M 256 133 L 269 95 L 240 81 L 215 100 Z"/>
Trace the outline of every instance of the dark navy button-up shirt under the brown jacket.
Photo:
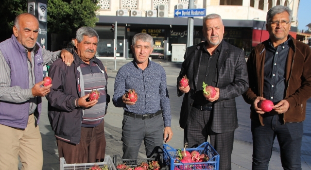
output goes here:
<path id="1" fill-rule="evenodd" d="M 286 94 L 285 67 L 289 40 L 290 37 L 276 48 L 271 42 L 265 47 L 263 97 L 275 104 L 283 100 Z"/>

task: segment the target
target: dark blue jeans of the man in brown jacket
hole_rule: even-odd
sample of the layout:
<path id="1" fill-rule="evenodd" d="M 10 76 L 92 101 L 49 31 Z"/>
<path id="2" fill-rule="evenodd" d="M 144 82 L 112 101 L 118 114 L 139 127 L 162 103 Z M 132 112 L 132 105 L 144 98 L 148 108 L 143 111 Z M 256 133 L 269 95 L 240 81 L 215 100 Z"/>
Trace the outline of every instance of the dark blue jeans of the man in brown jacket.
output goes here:
<path id="1" fill-rule="evenodd" d="M 252 170 L 268 170 L 275 137 L 280 146 L 281 163 L 284 170 L 301 170 L 300 149 L 303 123 L 283 123 L 283 115 L 265 113 L 264 126 L 253 122 Z"/>

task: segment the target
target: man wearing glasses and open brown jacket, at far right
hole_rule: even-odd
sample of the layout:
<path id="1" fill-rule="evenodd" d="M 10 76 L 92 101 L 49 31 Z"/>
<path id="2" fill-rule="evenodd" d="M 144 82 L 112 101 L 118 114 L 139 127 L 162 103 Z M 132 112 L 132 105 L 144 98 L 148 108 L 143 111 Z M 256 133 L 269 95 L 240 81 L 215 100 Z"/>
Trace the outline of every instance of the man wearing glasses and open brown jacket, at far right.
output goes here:
<path id="1" fill-rule="evenodd" d="M 289 7 L 271 8 L 266 24 L 270 37 L 247 60 L 249 89 L 243 98 L 251 104 L 252 170 L 268 170 L 275 137 L 284 170 L 301 170 L 303 120 L 311 97 L 311 49 L 289 35 L 291 21 Z M 274 102 L 270 112 L 258 107 L 265 99 Z"/>

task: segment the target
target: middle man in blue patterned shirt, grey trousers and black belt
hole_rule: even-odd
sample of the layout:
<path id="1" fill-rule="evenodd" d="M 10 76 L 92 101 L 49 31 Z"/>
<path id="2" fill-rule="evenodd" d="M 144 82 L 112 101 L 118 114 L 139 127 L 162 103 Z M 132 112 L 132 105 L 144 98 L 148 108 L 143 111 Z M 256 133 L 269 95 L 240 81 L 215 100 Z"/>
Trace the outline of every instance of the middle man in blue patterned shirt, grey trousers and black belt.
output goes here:
<path id="1" fill-rule="evenodd" d="M 163 137 L 168 142 L 173 136 L 166 73 L 164 68 L 149 60 L 153 38 L 149 34 L 139 33 L 133 37 L 132 44 L 135 59 L 119 69 L 112 99 L 116 107 L 124 109 L 121 138 L 123 159 L 137 158 L 142 140 L 146 155 L 150 157 L 162 148 Z M 130 89 L 135 89 L 137 102 L 130 102 L 125 97 Z"/>

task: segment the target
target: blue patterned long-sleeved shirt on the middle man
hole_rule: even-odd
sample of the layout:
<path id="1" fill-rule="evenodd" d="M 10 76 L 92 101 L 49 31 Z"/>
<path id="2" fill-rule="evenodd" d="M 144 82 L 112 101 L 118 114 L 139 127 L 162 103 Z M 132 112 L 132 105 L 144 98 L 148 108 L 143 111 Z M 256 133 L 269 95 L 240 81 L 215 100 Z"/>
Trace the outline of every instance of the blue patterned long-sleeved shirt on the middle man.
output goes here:
<path id="1" fill-rule="evenodd" d="M 133 105 L 122 102 L 122 96 L 130 89 L 135 89 L 138 100 Z M 127 112 L 150 114 L 163 110 L 165 127 L 171 127 L 171 107 L 166 86 L 164 68 L 149 60 L 147 68 L 138 68 L 135 60 L 122 66 L 116 76 L 112 98 L 116 107 L 123 107 Z"/>

